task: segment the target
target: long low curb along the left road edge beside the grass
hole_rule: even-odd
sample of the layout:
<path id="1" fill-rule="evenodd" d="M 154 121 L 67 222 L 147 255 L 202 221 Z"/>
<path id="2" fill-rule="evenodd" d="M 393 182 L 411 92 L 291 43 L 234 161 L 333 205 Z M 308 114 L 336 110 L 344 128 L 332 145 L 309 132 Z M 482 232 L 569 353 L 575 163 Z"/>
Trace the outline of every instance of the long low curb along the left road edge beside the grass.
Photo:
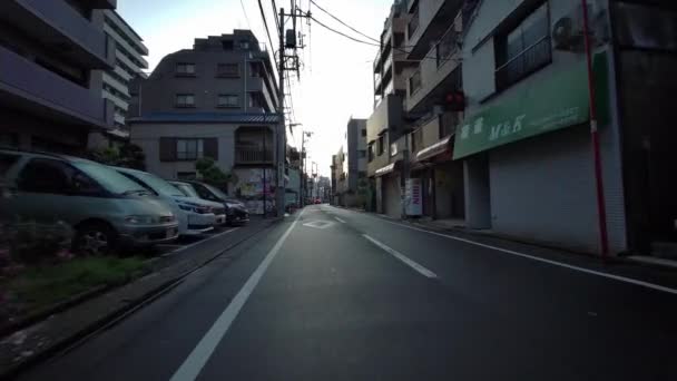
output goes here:
<path id="1" fill-rule="evenodd" d="M 190 275 L 195 271 L 206 266 L 207 264 L 212 263 L 216 258 L 226 254 L 228 251 L 239 246 L 242 243 L 251 240 L 252 237 L 256 236 L 257 234 L 277 225 L 282 221 L 284 221 L 284 218 L 282 218 L 282 217 L 271 218 L 271 221 L 267 224 L 264 224 L 259 229 L 253 232 L 252 234 L 246 235 L 242 240 L 238 240 L 238 241 L 232 243 L 230 245 L 224 247 L 223 250 L 219 250 L 218 252 L 216 252 L 216 254 L 208 256 L 204 261 L 199 261 L 199 263 L 192 266 L 190 270 L 187 270 L 187 271 L 180 273 L 179 275 L 174 276 L 166 282 L 163 282 L 158 286 L 150 289 L 149 291 L 144 293 L 141 296 L 139 296 L 135 300 L 128 301 L 124 306 L 121 306 L 117 310 L 110 311 L 108 314 L 101 316 L 100 319 L 97 319 L 94 322 L 91 322 L 90 324 L 82 326 L 82 329 L 75 332 L 70 336 L 56 341 L 56 342 L 51 343 L 50 345 L 46 345 L 45 348 L 41 348 L 40 350 L 36 351 L 36 353 L 33 355 L 31 355 L 29 358 L 24 358 L 24 360 L 18 361 L 16 364 L 12 364 L 7 369 L 0 370 L 0 380 L 10 380 L 12 378 L 16 378 L 20 373 L 52 358 L 53 355 L 57 355 L 61 352 L 65 352 L 67 350 L 78 346 L 79 344 L 84 343 L 87 339 L 89 339 L 90 336 L 92 336 L 94 334 L 99 332 L 100 330 L 115 325 L 116 323 L 120 322 L 122 319 L 125 319 L 129 314 L 134 313 L 138 309 L 153 302 L 155 299 L 164 295 L 165 293 L 171 291 L 175 286 L 179 285 L 186 276 Z M 177 264 L 177 265 L 180 265 L 180 264 Z M 153 276 L 153 274 L 154 273 L 146 274 L 145 276 L 141 276 L 126 285 L 131 285 L 135 282 L 146 279 L 147 276 Z M 98 292 L 96 292 L 96 293 L 94 291 L 91 291 L 91 294 L 89 294 L 89 292 L 86 292 L 85 294 L 87 294 L 87 295 L 84 295 L 82 297 L 78 299 L 77 301 L 63 302 L 63 304 L 68 304 L 68 305 L 60 305 L 61 311 L 65 311 L 79 303 L 91 300 L 95 296 L 101 295 L 106 291 L 110 291 L 110 289 L 112 289 L 109 286 L 102 286 L 102 287 L 105 287 L 106 290 L 104 290 L 104 291 L 97 290 Z M 87 296 L 89 296 L 89 297 L 87 297 Z M 76 296 L 76 299 L 77 299 L 77 296 Z"/>

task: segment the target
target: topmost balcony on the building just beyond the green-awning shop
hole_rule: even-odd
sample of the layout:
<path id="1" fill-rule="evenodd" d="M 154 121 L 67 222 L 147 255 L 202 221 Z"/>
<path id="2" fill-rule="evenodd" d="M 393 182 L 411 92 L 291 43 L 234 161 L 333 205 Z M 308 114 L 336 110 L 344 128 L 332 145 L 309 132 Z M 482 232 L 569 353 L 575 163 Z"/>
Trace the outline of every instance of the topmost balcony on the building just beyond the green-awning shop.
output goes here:
<path id="1" fill-rule="evenodd" d="M 408 28 L 408 46 L 411 46 L 409 59 L 422 59 L 430 43 L 439 40 L 461 11 L 463 0 L 419 0 Z M 415 18 L 415 28 L 412 21 Z"/>

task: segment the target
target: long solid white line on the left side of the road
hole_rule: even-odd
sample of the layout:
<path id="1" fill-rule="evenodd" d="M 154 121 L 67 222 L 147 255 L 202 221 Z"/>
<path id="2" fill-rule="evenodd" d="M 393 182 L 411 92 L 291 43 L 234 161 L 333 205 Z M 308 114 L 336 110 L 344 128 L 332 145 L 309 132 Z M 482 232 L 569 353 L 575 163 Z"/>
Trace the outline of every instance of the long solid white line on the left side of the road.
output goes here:
<path id="1" fill-rule="evenodd" d="M 279 252 L 279 248 L 282 247 L 286 238 L 290 236 L 290 233 L 292 233 L 292 231 L 296 226 L 296 223 L 298 222 L 298 218 L 302 215 L 303 212 L 298 214 L 296 219 L 294 219 L 294 222 L 292 223 L 292 226 L 290 226 L 286 232 L 284 232 L 282 237 L 277 240 L 275 246 L 273 246 L 273 248 L 268 252 L 263 262 L 258 265 L 256 271 L 254 271 L 252 276 L 249 276 L 242 290 L 239 290 L 237 295 L 235 295 L 233 301 L 228 304 L 224 312 L 222 312 L 216 322 L 214 322 L 214 325 L 212 325 L 209 331 L 207 331 L 207 333 L 203 336 L 199 343 L 197 343 L 197 346 L 195 346 L 193 352 L 190 352 L 190 354 L 184 361 L 181 367 L 174 373 L 170 381 L 193 381 L 197 379 L 199 372 L 203 370 L 203 368 L 212 356 L 212 353 L 214 353 L 216 345 L 218 345 L 226 332 L 228 332 L 230 324 L 233 324 L 233 321 L 235 321 L 235 318 L 237 318 L 237 314 L 247 302 L 249 295 L 252 295 L 252 292 L 263 277 L 263 274 L 271 265 L 271 262 L 273 262 L 273 260 Z"/>

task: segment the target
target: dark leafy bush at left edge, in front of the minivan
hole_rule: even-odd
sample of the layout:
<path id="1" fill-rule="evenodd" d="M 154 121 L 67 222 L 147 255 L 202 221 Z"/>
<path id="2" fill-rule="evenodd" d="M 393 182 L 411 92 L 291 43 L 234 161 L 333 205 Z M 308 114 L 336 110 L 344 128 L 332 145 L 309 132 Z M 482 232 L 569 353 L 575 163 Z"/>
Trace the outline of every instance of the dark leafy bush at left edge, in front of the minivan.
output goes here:
<path id="1" fill-rule="evenodd" d="M 63 222 L 19 222 L 6 225 L 0 234 L 9 248 L 10 262 L 33 264 L 70 256 L 73 231 Z"/>

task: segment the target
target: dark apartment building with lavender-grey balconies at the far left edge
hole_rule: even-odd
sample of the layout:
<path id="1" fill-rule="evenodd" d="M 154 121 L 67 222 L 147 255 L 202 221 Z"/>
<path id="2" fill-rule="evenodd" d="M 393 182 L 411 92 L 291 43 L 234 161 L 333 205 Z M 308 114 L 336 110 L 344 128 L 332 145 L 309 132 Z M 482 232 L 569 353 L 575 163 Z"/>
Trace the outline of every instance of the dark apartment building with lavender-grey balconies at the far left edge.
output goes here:
<path id="1" fill-rule="evenodd" d="M 111 128 L 101 91 L 116 53 L 104 13 L 116 3 L 0 2 L 0 145 L 84 154 L 90 133 Z"/>

